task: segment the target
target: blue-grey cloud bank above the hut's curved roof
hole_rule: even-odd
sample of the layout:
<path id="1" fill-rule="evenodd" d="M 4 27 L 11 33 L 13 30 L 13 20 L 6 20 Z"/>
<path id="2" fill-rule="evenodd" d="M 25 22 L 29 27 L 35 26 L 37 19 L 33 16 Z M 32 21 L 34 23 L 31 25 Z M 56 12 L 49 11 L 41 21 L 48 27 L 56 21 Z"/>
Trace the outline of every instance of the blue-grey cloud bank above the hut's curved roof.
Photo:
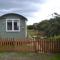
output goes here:
<path id="1" fill-rule="evenodd" d="M 39 3 L 43 2 L 43 0 L 0 0 L 0 14 L 16 12 L 25 16 L 31 16 L 38 11 Z"/>

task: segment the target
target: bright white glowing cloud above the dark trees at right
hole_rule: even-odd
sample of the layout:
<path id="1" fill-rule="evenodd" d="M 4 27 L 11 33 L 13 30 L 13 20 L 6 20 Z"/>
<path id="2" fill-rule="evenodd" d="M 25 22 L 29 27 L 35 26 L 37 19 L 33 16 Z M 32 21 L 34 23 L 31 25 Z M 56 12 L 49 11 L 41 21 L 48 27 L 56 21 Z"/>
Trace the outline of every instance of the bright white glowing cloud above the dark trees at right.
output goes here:
<path id="1" fill-rule="evenodd" d="M 45 19 L 50 19 L 53 17 L 52 14 L 54 12 L 60 14 L 60 0 L 47 0 L 47 2 L 42 4 L 40 9 L 33 14 L 33 20 L 36 23 Z"/>

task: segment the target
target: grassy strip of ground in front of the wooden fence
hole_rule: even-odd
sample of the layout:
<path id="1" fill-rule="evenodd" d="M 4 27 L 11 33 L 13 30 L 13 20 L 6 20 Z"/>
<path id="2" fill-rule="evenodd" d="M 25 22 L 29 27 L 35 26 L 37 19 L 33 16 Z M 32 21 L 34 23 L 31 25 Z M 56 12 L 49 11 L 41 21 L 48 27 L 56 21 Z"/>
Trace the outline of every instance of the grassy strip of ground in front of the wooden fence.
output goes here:
<path id="1" fill-rule="evenodd" d="M 0 60 L 60 60 L 60 54 L 1 52 Z"/>

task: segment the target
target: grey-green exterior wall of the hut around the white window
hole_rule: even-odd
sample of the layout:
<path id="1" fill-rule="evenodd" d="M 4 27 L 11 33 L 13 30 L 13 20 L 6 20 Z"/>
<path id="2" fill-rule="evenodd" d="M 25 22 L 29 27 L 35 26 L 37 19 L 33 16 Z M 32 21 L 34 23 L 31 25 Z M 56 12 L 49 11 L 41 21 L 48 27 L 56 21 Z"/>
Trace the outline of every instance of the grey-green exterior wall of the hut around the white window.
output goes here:
<path id="1" fill-rule="evenodd" d="M 20 32 L 6 32 L 6 19 L 20 19 Z M 0 19 L 0 38 L 26 38 L 26 23 L 16 15 L 5 16 L 4 19 Z"/>

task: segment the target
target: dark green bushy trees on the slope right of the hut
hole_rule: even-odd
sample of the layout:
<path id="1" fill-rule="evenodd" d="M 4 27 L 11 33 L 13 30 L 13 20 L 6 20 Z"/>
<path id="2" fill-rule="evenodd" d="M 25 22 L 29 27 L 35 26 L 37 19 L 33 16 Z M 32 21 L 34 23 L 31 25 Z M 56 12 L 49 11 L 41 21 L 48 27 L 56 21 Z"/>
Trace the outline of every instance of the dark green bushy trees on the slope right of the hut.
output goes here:
<path id="1" fill-rule="evenodd" d="M 34 24 L 32 27 L 34 27 Z M 39 32 L 44 32 L 44 36 L 47 37 L 60 35 L 60 15 L 57 14 L 54 18 L 39 22 L 36 25 L 36 29 Z"/>

